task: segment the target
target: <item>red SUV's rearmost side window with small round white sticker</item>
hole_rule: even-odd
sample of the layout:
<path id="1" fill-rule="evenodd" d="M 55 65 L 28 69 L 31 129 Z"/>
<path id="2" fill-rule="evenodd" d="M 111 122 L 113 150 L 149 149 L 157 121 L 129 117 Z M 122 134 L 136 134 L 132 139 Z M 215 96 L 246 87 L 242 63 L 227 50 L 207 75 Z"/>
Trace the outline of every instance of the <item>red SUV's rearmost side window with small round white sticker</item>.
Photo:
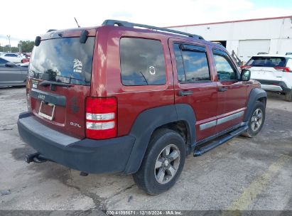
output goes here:
<path id="1" fill-rule="evenodd" d="M 166 63 L 160 41 L 121 38 L 120 57 L 123 85 L 166 84 Z"/>

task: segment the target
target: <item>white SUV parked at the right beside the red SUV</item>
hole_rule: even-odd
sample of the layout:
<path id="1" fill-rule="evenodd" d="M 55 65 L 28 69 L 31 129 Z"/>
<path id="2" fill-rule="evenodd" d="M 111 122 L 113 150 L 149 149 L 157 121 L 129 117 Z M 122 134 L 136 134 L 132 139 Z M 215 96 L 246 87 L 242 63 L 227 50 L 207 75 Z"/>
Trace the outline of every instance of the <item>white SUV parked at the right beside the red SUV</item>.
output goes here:
<path id="1" fill-rule="evenodd" d="M 252 79 L 261 82 L 262 89 L 281 92 L 286 101 L 292 101 L 292 56 L 254 55 L 242 69 L 249 69 Z"/>

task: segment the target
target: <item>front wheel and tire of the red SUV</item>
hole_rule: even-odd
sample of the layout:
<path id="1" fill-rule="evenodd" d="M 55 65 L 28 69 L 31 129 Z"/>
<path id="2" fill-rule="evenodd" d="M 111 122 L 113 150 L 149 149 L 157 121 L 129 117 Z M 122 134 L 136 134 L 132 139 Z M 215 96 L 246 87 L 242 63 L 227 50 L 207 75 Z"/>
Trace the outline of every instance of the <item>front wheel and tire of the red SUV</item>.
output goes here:
<path id="1" fill-rule="evenodd" d="M 256 101 L 254 109 L 252 110 L 252 115 L 249 117 L 247 131 L 242 133 L 243 136 L 253 137 L 259 134 L 261 128 L 264 125 L 264 120 L 266 117 L 266 107 L 262 102 Z"/>

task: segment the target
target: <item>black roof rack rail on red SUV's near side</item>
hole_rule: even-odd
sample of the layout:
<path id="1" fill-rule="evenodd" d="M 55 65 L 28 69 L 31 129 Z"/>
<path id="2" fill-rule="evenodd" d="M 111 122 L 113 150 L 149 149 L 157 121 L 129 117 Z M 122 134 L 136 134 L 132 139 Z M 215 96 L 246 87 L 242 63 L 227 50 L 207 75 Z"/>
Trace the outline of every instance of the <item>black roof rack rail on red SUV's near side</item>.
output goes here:
<path id="1" fill-rule="evenodd" d="M 158 30 L 158 31 L 176 33 L 176 34 L 180 34 L 180 35 L 183 35 L 183 36 L 189 36 L 191 38 L 197 38 L 197 39 L 204 40 L 204 38 L 202 38 L 202 36 L 194 35 L 194 34 L 191 34 L 191 33 L 186 33 L 186 32 L 183 32 L 183 31 L 175 31 L 175 30 L 168 29 L 168 28 L 159 28 L 159 27 L 155 27 L 155 26 L 148 26 L 148 25 L 138 24 L 138 23 L 129 23 L 127 21 L 118 21 L 118 20 L 113 20 L 113 19 L 105 20 L 102 23 L 102 26 L 124 26 L 124 27 L 129 27 L 129 28 L 134 28 L 136 26 L 136 27 L 141 27 L 141 28 L 155 29 L 155 30 Z"/>

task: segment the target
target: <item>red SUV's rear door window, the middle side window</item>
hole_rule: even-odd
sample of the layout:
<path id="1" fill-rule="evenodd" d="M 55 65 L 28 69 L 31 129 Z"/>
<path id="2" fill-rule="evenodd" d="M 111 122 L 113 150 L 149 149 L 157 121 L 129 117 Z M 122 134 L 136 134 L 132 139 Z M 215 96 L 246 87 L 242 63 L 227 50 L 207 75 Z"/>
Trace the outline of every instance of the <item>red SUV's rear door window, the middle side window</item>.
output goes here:
<path id="1" fill-rule="evenodd" d="M 207 53 L 204 47 L 174 44 L 178 82 L 210 81 Z"/>

